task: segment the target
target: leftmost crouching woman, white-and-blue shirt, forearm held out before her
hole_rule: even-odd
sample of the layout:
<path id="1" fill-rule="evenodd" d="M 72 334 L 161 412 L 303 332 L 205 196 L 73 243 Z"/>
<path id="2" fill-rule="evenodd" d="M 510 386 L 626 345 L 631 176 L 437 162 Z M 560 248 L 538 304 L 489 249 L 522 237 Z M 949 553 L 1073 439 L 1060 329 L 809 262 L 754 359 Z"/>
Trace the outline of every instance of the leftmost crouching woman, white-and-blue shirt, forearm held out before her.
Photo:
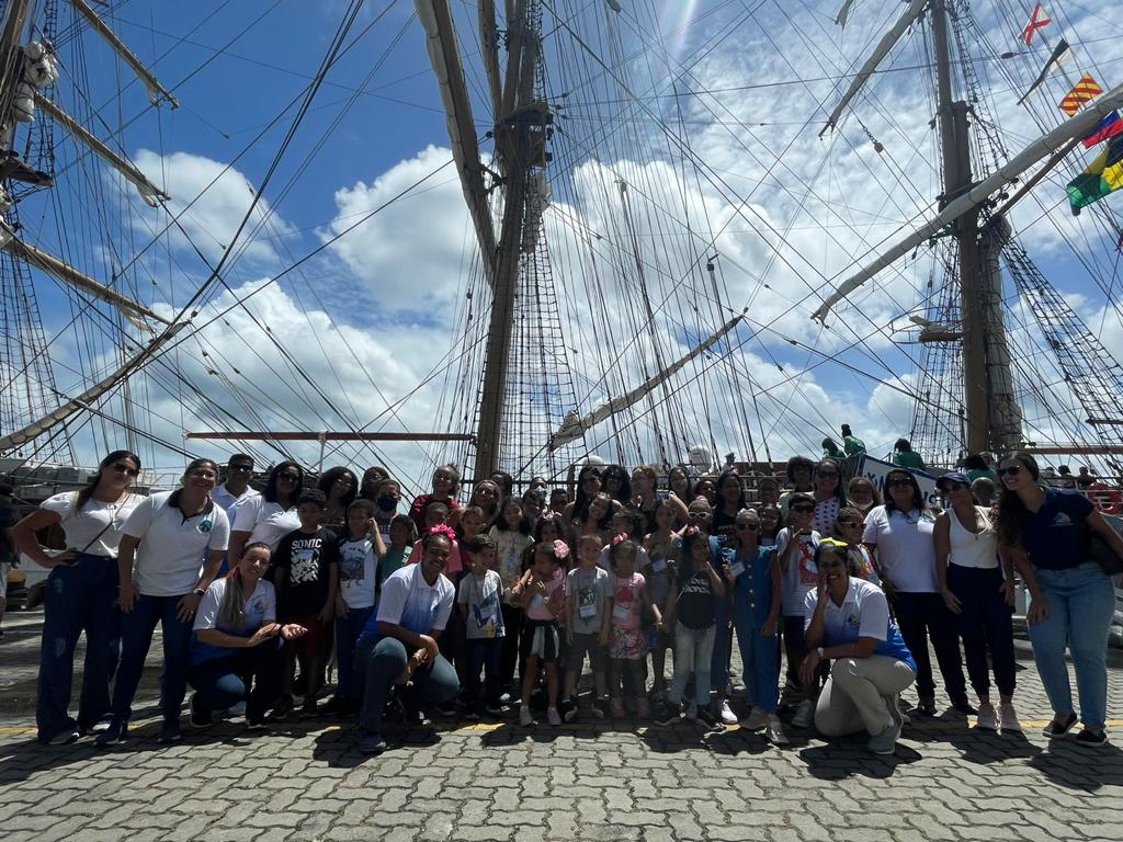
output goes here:
<path id="1" fill-rule="evenodd" d="M 308 630 L 276 622 L 273 583 L 263 577 L 270 546 L 246 544 L 237 566 L 212 582 L 195 613 L 188 667 L 191 724 L 206 727 L 216 711 L 246 703 L 246 726 L 265 727 L 265 714 L 281 693 L 284 641 Z"/>

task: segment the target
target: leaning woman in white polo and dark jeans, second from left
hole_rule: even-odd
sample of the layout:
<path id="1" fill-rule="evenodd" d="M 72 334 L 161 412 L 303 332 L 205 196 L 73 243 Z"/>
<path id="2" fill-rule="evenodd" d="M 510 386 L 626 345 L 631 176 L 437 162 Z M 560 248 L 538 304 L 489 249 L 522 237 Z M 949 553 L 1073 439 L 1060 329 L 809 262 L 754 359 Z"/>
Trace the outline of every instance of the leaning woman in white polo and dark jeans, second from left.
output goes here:
<path id="1" fill-rule="evenodd" d="M 180 739 L 180 708 L 188 687 L 188 650 L 199 601 L 218 574 L 230 538 L 226 512 L 210 493 L 218 465 L 195 459 L 173 492 L 153 494 L 121 530 L 121 666 L 113 685 L 112 720 L 99 747 L 121 742 L 128 732 L 133 697 L 156 623 L 164 635 L 161 742 Z"/>

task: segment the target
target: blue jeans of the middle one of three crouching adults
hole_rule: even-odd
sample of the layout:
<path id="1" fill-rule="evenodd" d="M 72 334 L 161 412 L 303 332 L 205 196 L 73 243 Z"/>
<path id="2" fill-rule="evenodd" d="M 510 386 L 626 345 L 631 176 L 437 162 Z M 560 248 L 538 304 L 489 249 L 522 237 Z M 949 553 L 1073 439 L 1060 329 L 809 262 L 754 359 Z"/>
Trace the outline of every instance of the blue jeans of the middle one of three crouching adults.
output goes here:
<path id="1" fill-rule="evenodd" d="M 405 644 L 398 638 L 367 638 L 358 646 L 355 668 L 363 677 L 363 707 L 359 725 L 369 733 L 382 732 L 382 708 L 394 680 L 405 669 L 409 660 Z M 444 704 L 460 692 L 460 681 L 453 665 L 438 655 L 431 666 L 421 667 L 413 674 L 410 687 L 403 687 L 402 702 L 413 710 Z"/>

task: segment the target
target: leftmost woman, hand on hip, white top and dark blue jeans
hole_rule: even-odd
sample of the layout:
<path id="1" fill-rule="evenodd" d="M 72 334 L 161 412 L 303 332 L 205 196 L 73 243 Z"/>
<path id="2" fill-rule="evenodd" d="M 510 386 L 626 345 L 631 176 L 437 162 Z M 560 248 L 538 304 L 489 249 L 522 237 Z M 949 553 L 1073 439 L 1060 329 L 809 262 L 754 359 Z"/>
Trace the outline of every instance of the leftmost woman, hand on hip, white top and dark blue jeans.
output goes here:
<path id="1" fill-rule="evenodd" d="M 109 681 L 120 656 L 117 611 L 117 551 L 121 527 L 144 497 L 129 492 L 140 459 L 115 450 L 101 460 L 84 488 L 47 497 L 12 528 L 21 552 L 51 570 L 43 601 L 39 692 L 35 703 L 38 740 L 51 745 L 74 742 L 109 724 Z M 48 555 L 38 533 L 61 528 L 66 550 Z M 85 633 L 85 668 L 77 720 L 69 712 L 74 680 L 74 649 Z"/>

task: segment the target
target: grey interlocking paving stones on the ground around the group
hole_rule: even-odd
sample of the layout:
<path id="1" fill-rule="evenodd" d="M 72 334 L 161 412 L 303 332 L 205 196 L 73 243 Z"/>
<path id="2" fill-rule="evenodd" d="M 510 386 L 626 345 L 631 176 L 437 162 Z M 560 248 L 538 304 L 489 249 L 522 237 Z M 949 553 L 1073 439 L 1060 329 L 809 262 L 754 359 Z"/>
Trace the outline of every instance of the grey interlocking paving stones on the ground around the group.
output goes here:
<path id="1" fill-rule="evenodd" d="M 125 745 L 38 747 L 28 699 L 39 617 L 9 615 L 0 642 L 3 842 L 1123 839 L 1123 751 L 1048 744 L 1021 635 L 1024 738 L 943 714 L 914 720 L 896 756 L 880 758 L 858 738 L 798 730 L 780 750 L 688 723 L 502 722 L 399 734 L 405 744 L 365 758 L 349 727 L 327 722 L 250 736 L 231 720 L 158 745 L 155 666 L 146 719 Z M 1123 744 L 1123 653 L 1110 658 L 1110 732 Z"/>

